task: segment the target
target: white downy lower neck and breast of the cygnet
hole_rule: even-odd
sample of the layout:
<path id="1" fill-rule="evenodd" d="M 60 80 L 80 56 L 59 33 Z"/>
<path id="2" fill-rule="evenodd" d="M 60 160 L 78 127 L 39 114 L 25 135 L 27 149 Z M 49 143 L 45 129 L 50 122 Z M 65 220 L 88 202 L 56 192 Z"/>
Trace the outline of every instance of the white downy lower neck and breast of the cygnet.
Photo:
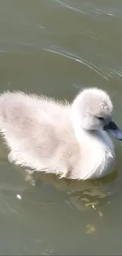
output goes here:
<path id="1" fill-rule="evenodd" d="M 113 142 L 107 132 L 85 130 L 76 124 L 73 128 L 81 153 L 79 167 L 83 170 L 82 179 L 95 179 L 111 172 L 115 154 Z"/>

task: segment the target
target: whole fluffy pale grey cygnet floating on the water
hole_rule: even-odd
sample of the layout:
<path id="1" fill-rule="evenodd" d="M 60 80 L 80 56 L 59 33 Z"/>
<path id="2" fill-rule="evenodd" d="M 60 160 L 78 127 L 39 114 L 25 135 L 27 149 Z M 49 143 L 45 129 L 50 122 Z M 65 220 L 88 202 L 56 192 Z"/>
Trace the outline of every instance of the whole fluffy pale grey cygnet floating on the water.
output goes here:
<path id="1" fill-rule="evenodd" d="M 110 134 L 122 139 L 112 115 L 109 94 L 96 87 L 83 89 L 72 103 L 22 91 L 0 95 L 0 132 L 9 161 L 32 173 L 87 180 L 112 172 Z"/>

